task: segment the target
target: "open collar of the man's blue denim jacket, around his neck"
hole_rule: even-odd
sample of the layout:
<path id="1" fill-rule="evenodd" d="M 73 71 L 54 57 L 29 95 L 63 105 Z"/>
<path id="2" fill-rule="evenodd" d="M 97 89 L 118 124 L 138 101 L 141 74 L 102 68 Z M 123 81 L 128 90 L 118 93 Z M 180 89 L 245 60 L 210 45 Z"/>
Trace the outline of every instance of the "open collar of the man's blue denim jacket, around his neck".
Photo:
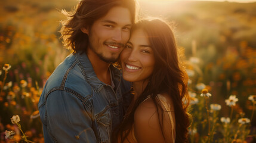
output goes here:
<path id="1" fill-rule="evenodd" d="M 100 91 L 106 83 L 101 82 L 91 65 L 91 61 L 87 57 L 87 54 L 84 53 L 73 53 L 75 55 L 76 61 L 79 64 L 79 67 L 82 69 L 82 74 L 84 74 L 85 80 L 95 89 L 96 92 Z M 110 70 L 112 71 L 113 82 L 116 83 L 120 81 L 121 72 L 116 69 L 112 64 L 110 64 Z M 118 79 L 118 81 L 116 80 Z"/>

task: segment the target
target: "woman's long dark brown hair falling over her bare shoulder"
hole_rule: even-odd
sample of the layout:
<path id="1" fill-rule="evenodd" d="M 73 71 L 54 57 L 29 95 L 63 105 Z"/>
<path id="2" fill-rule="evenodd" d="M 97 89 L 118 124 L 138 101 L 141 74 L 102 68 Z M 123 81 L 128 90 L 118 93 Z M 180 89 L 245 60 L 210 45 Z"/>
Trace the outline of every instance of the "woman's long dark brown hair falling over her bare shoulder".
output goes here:
<path id="1" fill-rule="evenodd" d="M 187 142 L 189 114 L 186 111 L 188 104 L 184 105 L 183 98 L 188 101 L 188 76 L 184 67 L 179 63 L 177 46 L 171 26 L 169 26 L 169 24 L 164 20 L 154 18 L 151 20 L 144 19 L 138 21 L 138 23 L 132 27 L 132 31 L 136 29 L 143 29 L 144 32 L 147 33 L 150 46 L 153 49 L 155 63 L 157 64 L 155 64 L 153 73 L 149 77 L 149 84 L 135 101 L 131 114 L 127 115 L 116 132 L 118 132 L 119 136 L 121 135 L 121 142 L 124 142 L 129 132 L 131 132 L 131 126 L 134 123 L 134 113 L 136 108 L 147 98 L 148 95 L 150 95 L 158 108 L 157 113 L 162 134 L 163 136 L 166 135 L 166 133 L 164 133 L 163 120 L 161 120 L 164 116 L 164 110 L 156 97 L 158 94 L 165 93 L 171 97 L 174 105 L 176 120 L 175 142 Z M 118 141 L 118 138 L 119 137 L 113 136 L 114 141 Z"/>

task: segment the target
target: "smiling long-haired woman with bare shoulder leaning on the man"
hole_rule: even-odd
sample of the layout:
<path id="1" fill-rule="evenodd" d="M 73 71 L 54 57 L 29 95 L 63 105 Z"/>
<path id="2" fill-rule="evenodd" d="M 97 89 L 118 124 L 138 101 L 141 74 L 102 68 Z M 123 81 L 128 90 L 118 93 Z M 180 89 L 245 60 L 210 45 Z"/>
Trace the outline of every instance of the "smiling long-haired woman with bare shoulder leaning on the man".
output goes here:
<path id="1" fill-rule="evenodd" d="M 115 142 L 187 142 L 187 74 L 170 26 L 157 18 L 138 21 L 120 60 L 134 97 Z"/>

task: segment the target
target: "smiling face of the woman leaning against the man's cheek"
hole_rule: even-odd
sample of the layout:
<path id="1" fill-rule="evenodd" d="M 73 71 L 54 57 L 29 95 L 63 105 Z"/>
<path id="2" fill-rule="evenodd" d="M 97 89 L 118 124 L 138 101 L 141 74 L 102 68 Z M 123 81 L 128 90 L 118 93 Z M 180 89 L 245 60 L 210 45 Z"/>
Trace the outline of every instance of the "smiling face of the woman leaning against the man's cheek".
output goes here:
<path id="1" fill-rule="evenodd" d="M 144 30 L 137 29 L 132 32 L 120 59 L 125 80 L 141 82 L 148 79 L 153 72 L 155 58 Z"/>

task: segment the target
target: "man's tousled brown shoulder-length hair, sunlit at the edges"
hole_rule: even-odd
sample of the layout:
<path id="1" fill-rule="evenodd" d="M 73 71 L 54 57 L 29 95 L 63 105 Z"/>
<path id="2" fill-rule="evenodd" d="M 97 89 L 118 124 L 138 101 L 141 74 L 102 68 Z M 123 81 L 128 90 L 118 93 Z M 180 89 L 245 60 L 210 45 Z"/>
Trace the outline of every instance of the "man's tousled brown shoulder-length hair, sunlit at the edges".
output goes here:
<path id="1" fill-rule="evenodd" d="M 111 8 L 118 6 L 128 8 L 131 21 L 134 23 L 137 19 L 136 0 L 81 0 L 76 5 L 75 10 L 70 12 L 61 10 L 61 13 L 67 17 L 67 20 L 60 22 L 62 24 L 60 33 L 63 45 L 76 52 L 85 52 L 89 39 L 88 35 L 81 31 L 81 28 L 90 29 L 94 21 L 104 17 Z"/>

